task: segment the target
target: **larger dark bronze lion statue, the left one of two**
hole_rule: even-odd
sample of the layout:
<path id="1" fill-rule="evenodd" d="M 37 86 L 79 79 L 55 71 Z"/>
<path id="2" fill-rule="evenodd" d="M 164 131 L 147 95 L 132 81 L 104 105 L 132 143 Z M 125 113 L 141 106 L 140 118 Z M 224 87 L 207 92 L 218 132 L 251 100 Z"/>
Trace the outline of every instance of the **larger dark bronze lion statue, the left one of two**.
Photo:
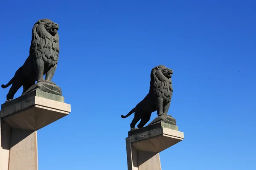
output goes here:
<path id="1" fill-rule="evenodd" d="M 16 71 L 14 77 L 2 88 L 12 84 L 6 96 L 6 102 L 13 99 L 18 89 L 23 86 L 26 92 L 37 82 L 52 82 L 53 74 L 57 68 L 59 55 L 58 24 L 49 19 L 38 20 L 32 29 L 32 40 L 29 49 L 29 57 Z M 46 75 L 44 79 L 44 75 Z"/>

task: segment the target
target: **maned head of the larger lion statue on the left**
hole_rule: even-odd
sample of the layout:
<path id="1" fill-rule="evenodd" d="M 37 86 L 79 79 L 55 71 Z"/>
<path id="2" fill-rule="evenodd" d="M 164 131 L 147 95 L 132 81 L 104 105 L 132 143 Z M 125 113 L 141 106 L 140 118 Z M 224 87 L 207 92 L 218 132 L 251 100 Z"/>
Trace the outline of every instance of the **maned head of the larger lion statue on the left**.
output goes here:
<path id="1" fill-rule="evenodd" d="M 49 19 L 38 20 L 32 29 L 29 54 L 42 58 L 45 63 L 55 65 L 59 54 L 59 26 Z"/>

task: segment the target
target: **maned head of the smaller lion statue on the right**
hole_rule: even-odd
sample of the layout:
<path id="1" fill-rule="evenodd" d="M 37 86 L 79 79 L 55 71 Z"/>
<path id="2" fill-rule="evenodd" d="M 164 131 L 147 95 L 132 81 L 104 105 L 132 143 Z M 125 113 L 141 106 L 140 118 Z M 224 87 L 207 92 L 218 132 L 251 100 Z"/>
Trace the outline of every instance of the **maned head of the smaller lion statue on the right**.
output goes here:
<path id="1" fill-rule="evenodd" d="M 157 97 L 171 100 L 172 97 L 172 74 L 173 70 L 164 65 L 158 65 L 151 70 L 150 88 Z"/>

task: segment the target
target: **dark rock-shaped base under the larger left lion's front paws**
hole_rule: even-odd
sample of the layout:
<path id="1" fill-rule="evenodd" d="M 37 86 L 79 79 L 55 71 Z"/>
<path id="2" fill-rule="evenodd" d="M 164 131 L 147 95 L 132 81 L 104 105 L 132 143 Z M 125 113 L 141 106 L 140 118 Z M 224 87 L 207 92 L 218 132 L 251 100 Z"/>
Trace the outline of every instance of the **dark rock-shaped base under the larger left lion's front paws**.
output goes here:
<path id="1" fill-rule="evenodd" d="M 50 94 L 62 96 L 61 88 L 58 85 L 53 85 L 47 82 L 38 82 L 35 85 L 32 85 L 24 94 L 28 94 L 29 92 L 34 91 L 36 89 L 39 89 Z"/>

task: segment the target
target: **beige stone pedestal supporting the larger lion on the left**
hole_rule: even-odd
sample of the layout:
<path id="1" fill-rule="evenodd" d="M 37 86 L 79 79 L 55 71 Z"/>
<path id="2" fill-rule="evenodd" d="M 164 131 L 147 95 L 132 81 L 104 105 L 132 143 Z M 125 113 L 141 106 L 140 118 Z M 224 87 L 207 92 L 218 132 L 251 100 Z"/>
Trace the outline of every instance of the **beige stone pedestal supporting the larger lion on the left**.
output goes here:
<path id="1" fill-rule="evenodd" d="M 38 170 L 37 130 L 71 111 L 64 97 L 34 90 L 2 105 L 0 170 Z"/>

